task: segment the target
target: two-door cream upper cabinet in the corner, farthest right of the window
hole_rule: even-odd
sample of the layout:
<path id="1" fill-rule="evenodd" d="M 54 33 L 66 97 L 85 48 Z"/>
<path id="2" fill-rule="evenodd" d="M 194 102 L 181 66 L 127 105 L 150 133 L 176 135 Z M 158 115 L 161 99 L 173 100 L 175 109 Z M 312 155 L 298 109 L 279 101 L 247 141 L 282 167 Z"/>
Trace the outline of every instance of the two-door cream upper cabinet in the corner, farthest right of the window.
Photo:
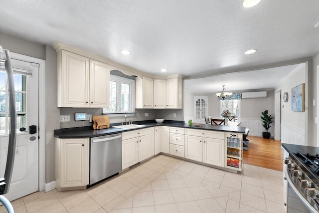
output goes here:
<path id="1" fill-rule="evenodd" d="M 173 77 L 154 80 L 154 108 L 181 109 L 183 102 L 182 79 Z"/>

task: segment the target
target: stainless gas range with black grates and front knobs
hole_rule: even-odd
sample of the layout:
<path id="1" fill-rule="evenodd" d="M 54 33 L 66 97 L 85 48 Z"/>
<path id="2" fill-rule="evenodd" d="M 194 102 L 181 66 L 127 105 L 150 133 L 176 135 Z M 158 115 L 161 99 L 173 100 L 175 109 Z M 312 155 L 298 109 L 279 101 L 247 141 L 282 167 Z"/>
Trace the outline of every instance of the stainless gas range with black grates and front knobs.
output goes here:
<path id="1" fill-rule="evenodd" d="M 301 212 L 319 212 L 319 154 L 290 153 L 285 160 L 289 187 L 305 205 Z M 289 195 L 288 195 L 289 196 Z M 294 196 L 292 196 L 294 197 Z M 288 198 L 288 203 L 289 203 Z M 291 199 L 292 201 L 292 199 Z M 290 204 L 291 206 L 293 204 Z M 291 208 L 293 209 L 293 208 Z M 309 211 L 306 211 L 308 209 Z M 288 204 L 288 212 L 289 204 Z"/>

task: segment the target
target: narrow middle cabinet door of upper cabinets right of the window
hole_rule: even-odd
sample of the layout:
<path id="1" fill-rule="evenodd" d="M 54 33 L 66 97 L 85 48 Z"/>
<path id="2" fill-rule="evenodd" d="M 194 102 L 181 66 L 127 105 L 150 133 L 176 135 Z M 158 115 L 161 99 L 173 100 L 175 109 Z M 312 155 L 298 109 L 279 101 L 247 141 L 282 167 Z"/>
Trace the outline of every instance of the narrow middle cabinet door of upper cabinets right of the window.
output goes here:
<path id="1" fill-rule="evenodd" d="M 166 79 L 154 79 L 154 108 L 166 108 Z"/>

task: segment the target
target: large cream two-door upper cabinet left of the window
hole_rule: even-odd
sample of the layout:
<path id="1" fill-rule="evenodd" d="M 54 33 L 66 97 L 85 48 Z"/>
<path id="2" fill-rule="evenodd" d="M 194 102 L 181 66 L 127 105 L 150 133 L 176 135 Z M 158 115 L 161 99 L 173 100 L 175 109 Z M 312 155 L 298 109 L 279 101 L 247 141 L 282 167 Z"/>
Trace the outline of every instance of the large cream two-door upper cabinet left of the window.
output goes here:
<path id="1" fill-rule="evenodd" d="M 57 53 L 58 107 L 107 107 L 108 65 L 66 50 Z"/>

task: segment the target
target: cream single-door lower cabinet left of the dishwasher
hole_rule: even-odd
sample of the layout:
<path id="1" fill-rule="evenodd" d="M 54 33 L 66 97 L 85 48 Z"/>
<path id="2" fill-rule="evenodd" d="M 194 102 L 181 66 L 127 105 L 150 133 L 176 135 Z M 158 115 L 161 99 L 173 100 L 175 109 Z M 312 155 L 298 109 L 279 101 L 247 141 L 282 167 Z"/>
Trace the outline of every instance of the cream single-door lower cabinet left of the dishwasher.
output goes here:
<path id="1" fill-rule="evenodd" d="M 85 189 L 89 184 L 89 138 L 57 138 L 55 145 L 56 189 Z"/>

